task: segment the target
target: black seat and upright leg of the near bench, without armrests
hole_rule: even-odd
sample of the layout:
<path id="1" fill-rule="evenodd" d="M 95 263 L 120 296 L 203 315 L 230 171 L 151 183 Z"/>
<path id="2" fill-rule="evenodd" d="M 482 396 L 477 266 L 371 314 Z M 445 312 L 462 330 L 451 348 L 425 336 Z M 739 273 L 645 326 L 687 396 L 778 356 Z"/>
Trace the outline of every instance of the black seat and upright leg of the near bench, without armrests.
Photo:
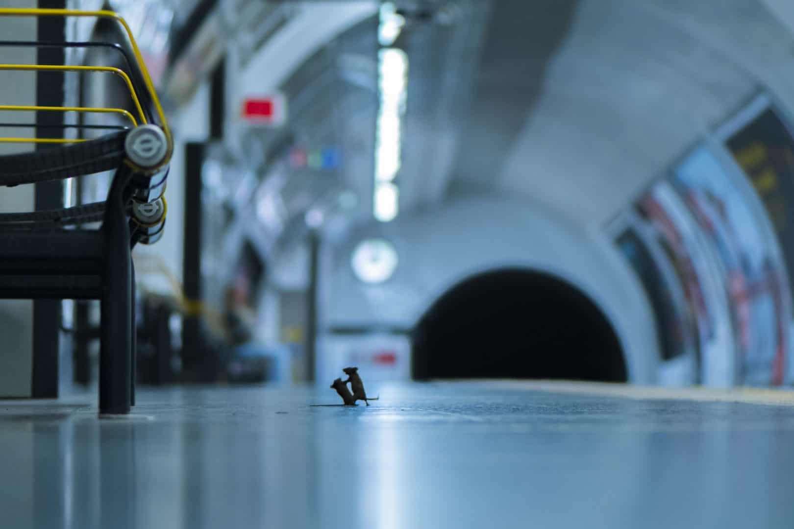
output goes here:
<path id="1" fill-rule="evenodd" d="M 130 176 L 126 167 L 116 174 L 98 230 L 0 227 L 0 297 L 101 301 L 101 413 L 127 413 L 135 399 L 135 279 L 125 200 Z"/>

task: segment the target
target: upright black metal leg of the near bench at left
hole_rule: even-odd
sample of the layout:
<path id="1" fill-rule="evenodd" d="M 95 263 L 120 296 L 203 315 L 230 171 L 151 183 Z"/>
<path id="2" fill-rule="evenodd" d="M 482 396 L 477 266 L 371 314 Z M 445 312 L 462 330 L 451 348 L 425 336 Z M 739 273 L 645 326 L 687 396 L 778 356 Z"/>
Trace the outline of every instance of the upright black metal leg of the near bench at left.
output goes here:
<path id="1" fill-rule="evenodd" d="M 102 232 L 102 329 L 99 352 L 99 412 L 129 413 L 132 396 L 132 255 L 123 190 L 128 178 L 118 171 L 108 193 Z"/>

